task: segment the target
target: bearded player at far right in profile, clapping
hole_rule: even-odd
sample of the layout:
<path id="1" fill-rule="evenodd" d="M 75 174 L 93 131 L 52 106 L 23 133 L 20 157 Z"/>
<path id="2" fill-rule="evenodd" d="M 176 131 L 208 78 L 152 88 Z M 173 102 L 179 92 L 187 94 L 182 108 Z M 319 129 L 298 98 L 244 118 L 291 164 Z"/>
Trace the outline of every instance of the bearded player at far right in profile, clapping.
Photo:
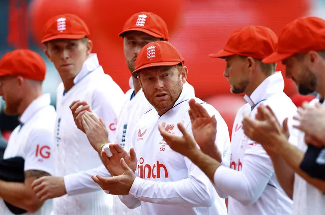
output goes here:
<path id="1" fill-rule="evenodd" d="M 296 82 L 300 94 L 307 95 L 316 91 L 320 99 L 311 101 L 311 106 L 316 102 L 324 106 L 324 29 L 325 20 L 321 18 L 296 19 L 284 27 L 279 36 L 277 50 L 262 60 L 265 63 L 282 61 L 286 67 L 286 76 Z M 272 107 L 271 109 L 273 110 Z M 279 181 L 282 181 L 283 189 L 293 196 L 293 214 L 325 214 L 325 182 L 311 177 L 301 168 L 309 147 L 308 136 L 299 131 L 298 140 L 291 140 L 290 132 L 287 140 L 286 125 L 281 128 L 281 124 L 275 123 L 274 115 L 267 107 L 261 107 L 259 112 L 264 118 L 253 120 L 245 117 L 243 127 L 251 139 L 258 140 L 272 155 L 275 169 L 284 172 L 277 175 L 281 176 Z M 300 111 L 294 118 L 299 117 Z M 296 127 L 299 128 L 299 122 Z M 293 141 L 297 147 L 290 144 Z"/>

